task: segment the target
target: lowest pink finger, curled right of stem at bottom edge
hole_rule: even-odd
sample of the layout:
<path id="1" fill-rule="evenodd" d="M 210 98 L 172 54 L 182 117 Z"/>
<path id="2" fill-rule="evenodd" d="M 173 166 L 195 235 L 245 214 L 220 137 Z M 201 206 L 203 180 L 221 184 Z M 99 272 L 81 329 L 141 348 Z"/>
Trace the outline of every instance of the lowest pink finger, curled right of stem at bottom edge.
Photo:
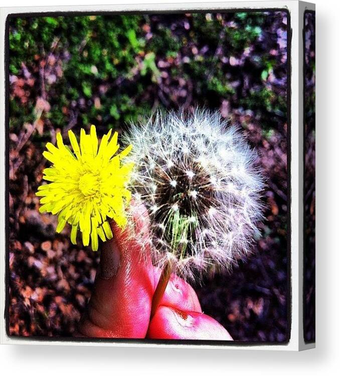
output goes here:
<path id="1" fill-rule="evenodd" d="M 159 306 L 147 331 L 153 339 L 233 340 L 227 330 L 202 312 Z"/>

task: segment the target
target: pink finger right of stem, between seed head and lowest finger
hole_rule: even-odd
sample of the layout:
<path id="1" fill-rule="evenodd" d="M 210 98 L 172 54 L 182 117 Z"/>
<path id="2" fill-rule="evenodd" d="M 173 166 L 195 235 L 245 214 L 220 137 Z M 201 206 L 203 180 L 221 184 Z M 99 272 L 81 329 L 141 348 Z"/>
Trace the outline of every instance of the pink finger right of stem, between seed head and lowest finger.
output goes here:
<path id="1" fill-rule="evenodd" d="M 154 286 L 157 286 L 161 270 L 154 268 Z M 172 274 L 159 305 L 171 306 L 182 311 L 202 312 L 201 304 L 192 286 Z"/>

